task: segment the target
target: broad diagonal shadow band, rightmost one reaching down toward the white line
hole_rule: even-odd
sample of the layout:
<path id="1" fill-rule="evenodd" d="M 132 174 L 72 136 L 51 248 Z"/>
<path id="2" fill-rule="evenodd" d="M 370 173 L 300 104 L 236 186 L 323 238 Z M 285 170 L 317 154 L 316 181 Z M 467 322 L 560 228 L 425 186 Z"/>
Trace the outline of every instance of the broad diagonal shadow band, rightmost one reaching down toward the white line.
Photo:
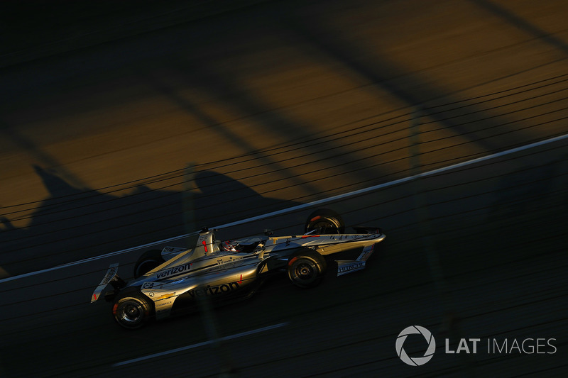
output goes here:
<path id="1" fill-rule="evenodd" d="M 289 11 L 283 22 L 310 43 L 311 50 L 307 53 L 322 62 L 341 62 L 377 89 L 419 111 L 422 121 L 434 121 L 468 144 L 476 145 L 479 153 L 506 150 L 540 137 L 518 130 L 518 126 L 511 123 L 517 120 L 511 117 L 500 116 L 460 98 L 455 92 L 434 87 L 420 74 L 401 70 L 400 65 L 391 62 L 380 51 L 369 51 L 358 40 L 349 40 L 348 34 L 337 37 L 337 30 L 330 30 L 323 22 L 318 23 L 314 18 L 304 20 L 294 11 Z M 458 102 L 462 105 L 453 111 L 434 108 L 436 104 Z"/>

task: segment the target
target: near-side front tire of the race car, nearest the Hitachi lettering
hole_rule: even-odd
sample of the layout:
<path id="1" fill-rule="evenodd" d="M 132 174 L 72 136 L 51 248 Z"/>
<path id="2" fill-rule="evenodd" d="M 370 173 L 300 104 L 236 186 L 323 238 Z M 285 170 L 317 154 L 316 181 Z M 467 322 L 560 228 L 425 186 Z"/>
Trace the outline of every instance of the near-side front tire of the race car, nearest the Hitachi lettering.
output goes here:
<path id="1" fill-rule="evenodd" d="M 288 259 L 288 278 L 297 287 L 307 289 L 320 284 L 327 270 L 322 255 L 315 250 L 299 250 Z"/>

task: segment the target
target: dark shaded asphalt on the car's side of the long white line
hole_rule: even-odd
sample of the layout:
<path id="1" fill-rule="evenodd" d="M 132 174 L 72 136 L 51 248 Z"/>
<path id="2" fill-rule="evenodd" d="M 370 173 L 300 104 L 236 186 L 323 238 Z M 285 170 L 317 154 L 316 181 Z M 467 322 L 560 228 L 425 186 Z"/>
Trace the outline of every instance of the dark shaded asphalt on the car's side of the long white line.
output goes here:
<path id="1" fill-rule="evenodd" d="M 555 149 L 544 152 L 525 151 L 513 160 L 503 159 L 432 177 L 431 182 L 424 184 L 435 185 L 443 179 L 446 184 L 457 185 L 471 174 L 486 174 L 487 167 L 499 174 L 511 162 L 523 158 L 539 161 L 554 158 L 566 144 L 553 145 Z M 386 189 L 333 207 L 344 211 L 348 224 L 364 223 L 376 211 L 366 209 L 369 197 L 397 196 L 406 190 L 407 186 Z M 441 199 L 447 196 L 444 193 Z M 480 204 L 466 199 L 459 213 L 471 211 L 471 207 L 477 209 Z M 453 214 L 449 223 L 463 222 L 460 219 L 463 216 L 447 212 Z M 546 226 L 532 224 L 534 218 L 528 221 L 525 216 L 507 216 L 516 222 L 503 226 L 500 221 L 484 224 L 470 221 L 461 223 L 452 233 L 447 231 L 435 238 L 451 297 L 448 303 L 442 301 L 444 296 L 432 281 L 422 245 L 409 236 L 418 231 L 402 229 L 389 233 L 387 228 L 388 239 L 378 245 L 364 272 L 337 278 L 328 274 L 324 283 L 312 290 L 296 289 L 287 279 L 275 279 L 250 301 L 224 306 L 215 312 L 221 337 L 285 325 L 226 340 L 222 343 L 223 352 L 202 345 L 126 365 L 120 364 L 209 340 L 197 315 L 127 332 L 114 325 L 107 303 L 88 303 L 94 286 L 89 283 L 96 284 L 109 262 L 120 262 L 123 272 L 129 272 L 132 266 L 128 265 L 128 257 L 5 282 L 2 303 L 11 305 L 4 306 L 6 311 L 2 315 L 3 340 L 9 345 L 3 348 L 4 369 L 9 377 L 106 374 L 207 377 L 218 374 L 224 361 L 229 361 L 226 363 L 243 377 L 263 377 L 271 371 L 289 377 L 452 376 L 469 372 L 503 377 L 525 372 L 562 376 L 567 368 L 562 350 L 567 348 L 568 335 L 562 324 L 566 321 L 568 261 L 564 250 L 557 245 L 565 240 L 561 229 L 565 222 L 557 224 L 555 229 L 548 222 Z M 550 216 L 550 212 L 543 216 Z M 273 224 L 285 228 L 294 218 L 281 216 Z M 397 218 L 403 219 L 385 216 L 383 221 L 396 229 L 400 226 Z M 498 225 L 501 228 L 487 227 Z M 18 298 L 22 300 L 14 300 Z M 456 319 L 464 338 L 498 338 L 500 343 L 502 338 L 508 338 L 509 343 L 514 338 L 554 338 L 552 344 L 557 352 L 477 354 L 474 362 L 464 362 L 457 355 L 444 355 L 443 340 L 449 337 L 444 333 L 444 320 L 449 318 L 447 311 Z M 418 371 L 419 368 L 400 362 L 394 348 L 398 332 L 415 324 L 429 328 L 439 343 L 434 359 Z M 456 344 L 452 345 L 455 350 Z M 422 346 L 418 344 L 417 350 Z"/>

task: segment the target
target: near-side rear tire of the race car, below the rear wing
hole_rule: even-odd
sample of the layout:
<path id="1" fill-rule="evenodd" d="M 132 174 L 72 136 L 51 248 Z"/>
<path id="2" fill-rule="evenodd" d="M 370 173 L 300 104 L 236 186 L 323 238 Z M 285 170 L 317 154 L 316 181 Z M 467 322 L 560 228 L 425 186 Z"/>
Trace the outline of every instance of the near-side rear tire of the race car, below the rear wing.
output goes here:
<path id="1" fill-rule="evenodd" d="M 138 290 L 120 294 L 112 306 L 112 316 L 119 326 L 133 330 L 150 320 L 153 311 L 151 301 Z"/>

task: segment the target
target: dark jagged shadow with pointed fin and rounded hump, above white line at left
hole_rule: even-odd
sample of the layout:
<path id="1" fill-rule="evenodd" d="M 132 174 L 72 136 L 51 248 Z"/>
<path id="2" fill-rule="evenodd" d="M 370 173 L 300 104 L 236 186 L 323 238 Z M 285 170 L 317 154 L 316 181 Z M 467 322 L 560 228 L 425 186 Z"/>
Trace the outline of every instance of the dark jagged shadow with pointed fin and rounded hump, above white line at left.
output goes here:
<path id="1" fill-rule="evenodd" d="M 0 267 L 10 275 L 185 233 L 182 191 L 146 185 L 131 186 L 124 195 L 111 190 L 84 191 L 48 169 L 36 166 L 35 172 L 50 196 L 35 208 L 28 226 L 18 228 L 8 218 L 0 218 Z M 212 171 L 199 172 L 195 186 L 192 196 L 197 226 L 219 226 L 299 204 L 263 197 Z"/>

